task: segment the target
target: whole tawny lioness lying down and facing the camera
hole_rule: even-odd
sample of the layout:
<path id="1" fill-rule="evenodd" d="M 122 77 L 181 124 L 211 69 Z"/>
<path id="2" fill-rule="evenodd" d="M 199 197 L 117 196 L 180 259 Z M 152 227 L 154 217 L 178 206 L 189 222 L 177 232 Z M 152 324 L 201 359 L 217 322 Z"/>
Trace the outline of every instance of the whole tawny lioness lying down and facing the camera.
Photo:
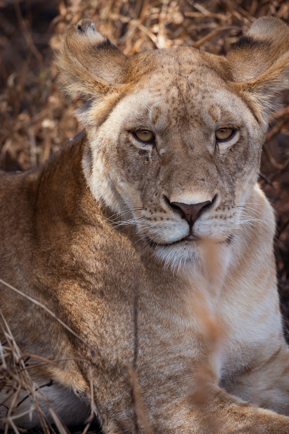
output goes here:
<path id="1" fill-rule="evenodd" d="M 0 174 L 0 278 L 95 354 L 2 285 L 20 349 L 69 358 L 33 378 L 52 378 L 42 390 L 66 424 L 83 422 L 90 361 L 104 433 L 288 434 L 274 214 L 257 177 L 289 87 L 289 27 L 256 20 L 226 57 L 126 57 L 84 19 L 58 65 L 88 97 L 85 132 L 36 169 Z M 30 405 L 20 426 L 37 425 Z"/>

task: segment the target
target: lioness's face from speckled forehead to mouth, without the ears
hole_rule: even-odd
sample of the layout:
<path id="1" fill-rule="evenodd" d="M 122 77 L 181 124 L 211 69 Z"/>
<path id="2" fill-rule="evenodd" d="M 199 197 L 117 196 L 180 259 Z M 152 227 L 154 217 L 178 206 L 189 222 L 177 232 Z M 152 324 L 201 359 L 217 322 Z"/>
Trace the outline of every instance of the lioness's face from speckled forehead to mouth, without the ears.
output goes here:
<path id="1" fill-rule="evenodd" d="M 189 233 L 228 239 L 245 216 L 241 205 L 258 173 L 258 122 L 200 57 L 197 50 L 189 59 L 186 49 L 164 52 L 93 133 L 96 196 L 161 245 L 189 246 Z M 218 140 L 221 128 L 232 137 Z M 152 140 L 138 139 L 142 131 L 141 139 Z M 206 202 L 193 224 L 172 205 Z"/>

